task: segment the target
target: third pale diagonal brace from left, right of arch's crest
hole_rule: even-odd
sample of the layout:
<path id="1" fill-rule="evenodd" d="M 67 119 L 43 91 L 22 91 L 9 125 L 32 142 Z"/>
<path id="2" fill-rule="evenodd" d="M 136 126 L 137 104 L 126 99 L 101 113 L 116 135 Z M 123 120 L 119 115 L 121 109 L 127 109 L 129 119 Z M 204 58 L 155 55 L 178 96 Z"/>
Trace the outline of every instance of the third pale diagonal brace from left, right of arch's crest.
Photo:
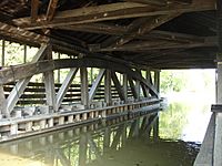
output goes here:
<path id="1" fill-rule="evenodd" d="M 92 86 L 91 86 L 90 92 L 89 92 L 89 101 L 90 102 L 93 100 L 95 92 L 97 92 L 98 87 L 100 86 L 100 83 L 102 81 L 104 73 L 105 73 L 105 69 L 101 69 L 99 74 L 98 74 L 98 77 L 92 83 Z"/>

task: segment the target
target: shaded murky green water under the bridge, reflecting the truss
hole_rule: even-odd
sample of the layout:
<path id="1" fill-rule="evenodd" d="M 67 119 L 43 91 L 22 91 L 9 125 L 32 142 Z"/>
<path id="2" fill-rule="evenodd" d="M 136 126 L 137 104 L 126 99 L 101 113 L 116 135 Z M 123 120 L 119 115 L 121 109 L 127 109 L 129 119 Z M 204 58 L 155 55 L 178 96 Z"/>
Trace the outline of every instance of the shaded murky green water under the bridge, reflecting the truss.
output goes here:
<path id="1" fill-rule="evenodd" d="M 192 165 L 198 148 L 182 141 L 160 138 L 158 120 L 158 113 L 128 121 L 109 120 L 99 124 L 1 144 L 0 165 Z M 172 133 L 179 134 L 178 131 Z M 8 159 L 8 163 L 2 159 Z"/>

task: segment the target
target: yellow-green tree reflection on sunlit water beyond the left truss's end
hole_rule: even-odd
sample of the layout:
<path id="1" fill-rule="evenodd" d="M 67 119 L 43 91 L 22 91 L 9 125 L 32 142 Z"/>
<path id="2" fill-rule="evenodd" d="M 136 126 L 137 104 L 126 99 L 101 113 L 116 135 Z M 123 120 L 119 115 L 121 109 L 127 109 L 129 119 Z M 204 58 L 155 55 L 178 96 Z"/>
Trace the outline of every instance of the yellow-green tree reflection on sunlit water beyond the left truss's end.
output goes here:
<path id="1" fill-rule="evenodd" d="M 188 123 L 188 105 L 171 103 L 167 112 L 160 115 L 160 137 L 178 139 L 181 137 L 184 125 Z"/>

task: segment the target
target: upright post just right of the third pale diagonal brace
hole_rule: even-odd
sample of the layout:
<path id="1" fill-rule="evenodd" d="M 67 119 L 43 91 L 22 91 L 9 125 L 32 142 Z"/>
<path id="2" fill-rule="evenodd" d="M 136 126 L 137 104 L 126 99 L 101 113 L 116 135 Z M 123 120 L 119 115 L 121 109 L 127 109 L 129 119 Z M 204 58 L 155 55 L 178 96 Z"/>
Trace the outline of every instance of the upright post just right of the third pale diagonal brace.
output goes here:
<path id="1" fill-rule="evenodd" d="M 111 95 L 111 71 L 105 70 L 104 76 L 104 100 L 107 105 L 111 105 L 112 103 L 112 95 Z"/>

